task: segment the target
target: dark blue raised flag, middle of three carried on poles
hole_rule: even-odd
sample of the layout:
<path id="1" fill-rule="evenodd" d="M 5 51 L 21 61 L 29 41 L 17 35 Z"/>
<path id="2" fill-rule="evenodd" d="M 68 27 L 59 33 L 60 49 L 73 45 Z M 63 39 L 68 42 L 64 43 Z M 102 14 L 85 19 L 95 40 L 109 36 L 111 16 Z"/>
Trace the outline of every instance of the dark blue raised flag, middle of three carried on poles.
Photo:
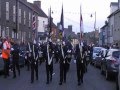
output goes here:
<path id="1" fill-rule="evenodd" d="M 62 11 L 61 11 L 61 19 L 60 19 L 60 25 L 59 25 L 59 36 L 61 39 L 64 38 L 64 15 L 63 15 L 63 5 L 62 5 Z"/>

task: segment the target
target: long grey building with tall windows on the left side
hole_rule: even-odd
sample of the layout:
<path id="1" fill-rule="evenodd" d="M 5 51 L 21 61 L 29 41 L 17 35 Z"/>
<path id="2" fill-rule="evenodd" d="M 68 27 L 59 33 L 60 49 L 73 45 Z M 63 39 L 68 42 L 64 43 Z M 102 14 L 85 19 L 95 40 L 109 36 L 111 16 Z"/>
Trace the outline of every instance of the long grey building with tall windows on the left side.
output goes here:
<path id="1" fill-rule="evenodd" d="M 33 14 L 35 16 L 33 33 Z M 20 42 L 37 37 L 38 13 L 27 0 L 0 0 L 0 36 Z"/>

